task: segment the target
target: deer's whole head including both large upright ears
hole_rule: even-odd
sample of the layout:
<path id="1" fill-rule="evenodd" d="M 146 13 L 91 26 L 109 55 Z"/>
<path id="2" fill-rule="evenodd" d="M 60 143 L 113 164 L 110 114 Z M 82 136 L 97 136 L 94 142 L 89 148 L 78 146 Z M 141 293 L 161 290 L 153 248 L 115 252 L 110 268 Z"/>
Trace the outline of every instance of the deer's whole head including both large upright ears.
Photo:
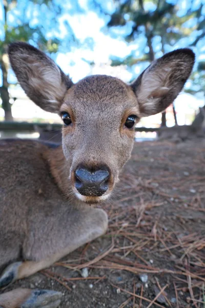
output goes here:
<path id="1" fill-rule="evenodd" d="M 105 75 L 77 84 L 43 52 L 25 43 L 9 47 L 20 85 L 38 106 L 63 119 L 63 152 L 76 197 L 107 199 L 129 159 L 134 125 L 165 110 L 188 79 L 194 53 L 179 49 L 153 62 L 132 85 Z"/>

